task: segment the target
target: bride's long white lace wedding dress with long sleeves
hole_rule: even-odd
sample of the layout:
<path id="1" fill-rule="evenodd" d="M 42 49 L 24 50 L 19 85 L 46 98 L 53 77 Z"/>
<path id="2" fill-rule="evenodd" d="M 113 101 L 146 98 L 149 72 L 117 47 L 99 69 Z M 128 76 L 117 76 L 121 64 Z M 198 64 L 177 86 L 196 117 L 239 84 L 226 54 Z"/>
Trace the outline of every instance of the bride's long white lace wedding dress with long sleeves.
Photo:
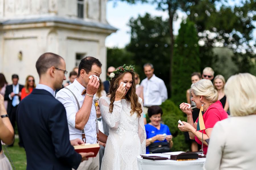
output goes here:
<path id="1" fill-rule="evenodd" d="M 143 109 L 142 99 L 138 100 Z M 109 135 L 101 163 L 102 170 L 137 170 L 137 156 L 146 154 L 146 131 L 143 113 L 131 115 L 131 103 L 126 99 L 114 101 L 109 112 L 110 98 L 99 99 L 101 116 L 109 126 Z"/>

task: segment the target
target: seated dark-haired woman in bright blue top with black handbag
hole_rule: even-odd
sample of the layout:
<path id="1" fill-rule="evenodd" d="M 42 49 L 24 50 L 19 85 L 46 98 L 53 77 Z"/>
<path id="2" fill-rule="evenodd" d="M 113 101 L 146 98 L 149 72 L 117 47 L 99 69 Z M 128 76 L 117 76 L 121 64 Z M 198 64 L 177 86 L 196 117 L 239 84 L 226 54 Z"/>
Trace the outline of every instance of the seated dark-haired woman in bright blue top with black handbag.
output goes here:
<path id="1" fill-rule="evenodd" d="M 170 152 L 173 147 L 173 136 L 167 125 L 161 124 L 163 111 L 159 106 L 148 108 L 150 123 L 145 125 L 146 129 L 146 153 Z M 159 147 L 161 145 L 161 147 Z"/>

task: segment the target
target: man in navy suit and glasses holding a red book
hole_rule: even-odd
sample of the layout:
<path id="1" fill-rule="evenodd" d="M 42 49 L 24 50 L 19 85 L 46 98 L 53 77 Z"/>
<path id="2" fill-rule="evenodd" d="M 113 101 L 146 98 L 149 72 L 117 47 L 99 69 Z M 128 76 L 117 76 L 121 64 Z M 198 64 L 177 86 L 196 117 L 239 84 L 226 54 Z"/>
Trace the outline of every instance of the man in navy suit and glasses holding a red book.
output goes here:
<path id="1" fill-rule="evenodd" d="M 27 170 L 77 169 L 88 160 L 89 153 L 77 153 L 72 145 L 82 144 L 80 139 L 69 141 L 66 111 L 54 97 L 54 90 L 66 79 L 66 65 L 62 57 L 44 53 L 36 61 L 39 84 L 24 98 L 17 109 L 19 137 L 24 143 Z"/>

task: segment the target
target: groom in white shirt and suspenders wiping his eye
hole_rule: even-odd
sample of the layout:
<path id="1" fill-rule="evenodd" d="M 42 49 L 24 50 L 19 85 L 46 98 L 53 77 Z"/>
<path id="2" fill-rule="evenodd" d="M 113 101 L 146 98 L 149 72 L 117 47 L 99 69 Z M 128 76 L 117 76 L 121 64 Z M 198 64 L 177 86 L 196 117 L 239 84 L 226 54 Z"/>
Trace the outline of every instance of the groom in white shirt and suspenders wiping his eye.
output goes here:
<path id="1" fill-rule="evenodd" d="M 83 58 L 78 67 L 77 78 L 56 94 L 56 99 L 66 109 L 70 140 L 80 138 L 86 143 L 98 142 L 95 94 L 100 85 L 98 78 L 101 75 L 101 66 L 99 59 L 91 56 Z M 107 141 L 107 136 L 101 131 L 99 140 L 103 143 Z M 99 170 L 99 153 L 81 163 L 78 169 Z"/>

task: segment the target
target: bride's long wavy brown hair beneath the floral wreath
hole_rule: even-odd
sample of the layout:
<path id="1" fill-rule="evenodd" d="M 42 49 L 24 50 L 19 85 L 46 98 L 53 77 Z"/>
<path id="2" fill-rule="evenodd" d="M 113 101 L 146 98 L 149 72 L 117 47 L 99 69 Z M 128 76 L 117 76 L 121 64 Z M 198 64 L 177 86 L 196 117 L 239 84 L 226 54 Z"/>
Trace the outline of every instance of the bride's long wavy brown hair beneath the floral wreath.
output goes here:
<path id="1" fill-rule="evenodd" d="M 119 69 L 118 67 L 117 69 Z M 116 90 L 119 87 L 119 80 L 124 76 L 126 73 L 131 73 L 132 74 L 132 86 L 128 90 L 128 92 L 125 95 L 125 99 L 129 102 L 131 102 L 131 115 L 134 114 L 134 112 L 137 113 L 137 117 L 141 116 L 142 113 L 142 108 L 141 104 L 138 102 L 138 95 L 136 94 L 136 84 L 135 84 L 135 73 L 133 71 L 126 71 L 124 73 L 119 73 L 117 77 L 112 78 L 110 81 L 110 86 L 109 86 L 109 94 L 110 96 L 110 107 L 109 107 L 109 112 L 112 113 L 113 111 L 113 103 L 115 101 L 115 95 L 116 95 Z"/>

